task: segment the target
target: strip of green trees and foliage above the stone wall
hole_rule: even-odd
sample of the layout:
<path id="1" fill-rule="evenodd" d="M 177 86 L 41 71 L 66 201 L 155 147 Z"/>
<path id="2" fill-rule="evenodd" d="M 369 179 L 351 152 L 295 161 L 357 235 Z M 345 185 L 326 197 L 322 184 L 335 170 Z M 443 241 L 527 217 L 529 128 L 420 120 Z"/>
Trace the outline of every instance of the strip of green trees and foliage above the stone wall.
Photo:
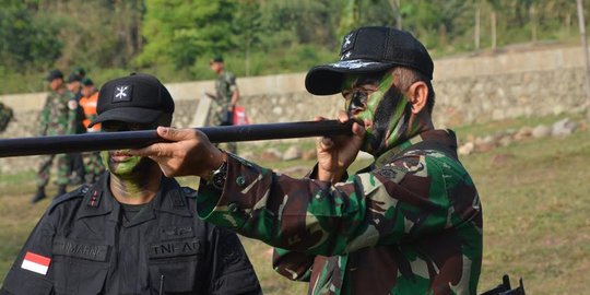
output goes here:
<path id="1" fill-rule="evenodd" d="M 223 55 L 238 75 L 305 71 L 335 60 L 343 35 L 364 25 L 400 25 L 435 58 L 521 43 L 579 43 L 576 3 L 570 0 L 0 0 L 0 4 L 4 81 L 0 93 L 40 91 L 37 76 L 50 68 L 68 74 L 74 66 L 93 69 L 93 76 L 101 78 L 134 70 L 165 82 L 211 79 L 208 63 L 214 54 Z"/>

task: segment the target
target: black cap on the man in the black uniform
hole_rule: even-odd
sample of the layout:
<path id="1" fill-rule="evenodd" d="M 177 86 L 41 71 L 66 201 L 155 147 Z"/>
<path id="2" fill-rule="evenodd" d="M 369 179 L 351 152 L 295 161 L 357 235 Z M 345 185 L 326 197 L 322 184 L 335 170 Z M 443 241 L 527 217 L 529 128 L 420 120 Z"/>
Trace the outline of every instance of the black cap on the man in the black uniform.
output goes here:
<path id="1" fill-rule="evenodd" d="M 106 82 L 98 92 L 98 116 L 88 127 L 104 121 L 151 123 L 163 114 L 174 113 L 168 90 L 155 76 L 131 73 Z"/>

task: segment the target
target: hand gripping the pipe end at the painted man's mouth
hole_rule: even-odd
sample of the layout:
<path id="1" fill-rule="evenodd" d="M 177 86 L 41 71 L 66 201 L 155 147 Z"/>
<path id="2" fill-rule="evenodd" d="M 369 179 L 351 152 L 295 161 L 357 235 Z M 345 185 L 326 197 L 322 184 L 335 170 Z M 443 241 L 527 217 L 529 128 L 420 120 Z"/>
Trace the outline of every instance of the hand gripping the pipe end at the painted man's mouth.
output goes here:
<path id="1" fill-rule="evenodd" d="M 338 120 L 347 121 L 345 113 L 340 113 Z M 326 120 L 316 118 L 316 120 Z M 352 135 L 323 137 L 316 141 L 318 156 L 318 179 L 339 182 L 346 173 L 346 168 L 354 162 L 365 138 L 365 128 L 357 122 L 353 123 Z"/>

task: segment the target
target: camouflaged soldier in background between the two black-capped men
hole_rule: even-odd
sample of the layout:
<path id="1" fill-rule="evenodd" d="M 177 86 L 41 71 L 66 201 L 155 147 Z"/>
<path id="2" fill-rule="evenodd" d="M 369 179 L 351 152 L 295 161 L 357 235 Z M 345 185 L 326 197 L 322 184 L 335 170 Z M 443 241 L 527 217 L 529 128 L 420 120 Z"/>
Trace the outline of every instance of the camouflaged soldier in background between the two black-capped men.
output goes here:
<path id="1" fill-rule="evenodd" d="M 223 57 L 216 56 L 209 62 L 211 70 L 217 75 L 215 80 L 215 94 L 206 93 L 213 98 L 213 105 L 208 117 L 209 126 L 231 126 L 234 125 L 234 108 L 239 98 L 239 90 L 236 84 L 236 76 L 225 70 Z M 235 142 L 225 143 L 222 146 L 229 153 L 237 153 Z"/>

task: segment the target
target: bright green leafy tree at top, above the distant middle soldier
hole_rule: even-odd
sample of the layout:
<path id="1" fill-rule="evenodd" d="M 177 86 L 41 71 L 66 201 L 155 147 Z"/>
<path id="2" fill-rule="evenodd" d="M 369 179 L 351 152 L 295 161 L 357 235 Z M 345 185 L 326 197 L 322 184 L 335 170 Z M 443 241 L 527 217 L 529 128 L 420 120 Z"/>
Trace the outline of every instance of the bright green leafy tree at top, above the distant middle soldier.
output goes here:
<path id="1" fill-rule="evenodd" d="M 146 0 L 141 34 L 146 44 L 140 66 L 172 62 L 188 68 L 199 57 L 232 48 L 235 1 Z"/>

